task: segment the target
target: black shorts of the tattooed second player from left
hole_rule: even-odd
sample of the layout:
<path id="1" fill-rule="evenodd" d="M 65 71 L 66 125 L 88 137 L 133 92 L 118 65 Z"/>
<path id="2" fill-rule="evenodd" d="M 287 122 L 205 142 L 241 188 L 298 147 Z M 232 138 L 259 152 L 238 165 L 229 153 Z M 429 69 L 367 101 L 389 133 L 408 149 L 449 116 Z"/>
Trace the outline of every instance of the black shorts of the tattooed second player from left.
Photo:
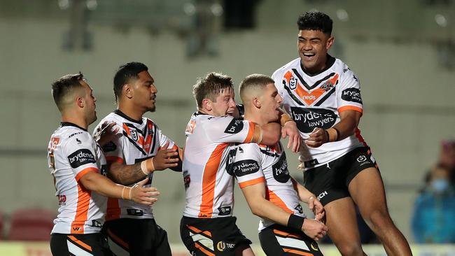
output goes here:
<path id="1" fill-rule="evenodd" d="M 109 248 L 116 256 L 171 256 L 167 232 L 154 219 L 122 218 L 104 223 Z"/>

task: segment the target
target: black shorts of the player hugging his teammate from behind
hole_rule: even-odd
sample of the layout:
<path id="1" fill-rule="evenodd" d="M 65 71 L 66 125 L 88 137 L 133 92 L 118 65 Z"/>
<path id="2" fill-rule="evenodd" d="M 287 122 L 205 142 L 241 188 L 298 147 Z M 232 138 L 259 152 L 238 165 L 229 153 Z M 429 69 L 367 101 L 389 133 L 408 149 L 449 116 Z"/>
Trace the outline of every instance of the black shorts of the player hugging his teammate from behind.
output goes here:
<path id="1" fill-rule="evenodd" d="M 235 225 L 236 220 L 235 217 L 200 219 L 183 216 L 180 236 L 191 255 L 235 255 L 239 246 L 251 244 Z"/>

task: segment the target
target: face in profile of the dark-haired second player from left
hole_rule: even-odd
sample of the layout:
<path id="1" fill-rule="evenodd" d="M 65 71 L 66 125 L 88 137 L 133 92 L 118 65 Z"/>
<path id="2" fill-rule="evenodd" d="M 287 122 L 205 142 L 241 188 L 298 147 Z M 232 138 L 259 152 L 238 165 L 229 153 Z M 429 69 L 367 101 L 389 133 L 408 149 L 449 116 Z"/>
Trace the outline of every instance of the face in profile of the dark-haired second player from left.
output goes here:
<path id="1" fill-rule="evenodd" d="M 155 87 L 155 80 L 148 71 L 142 71 L 137 74 L 138 79 L 133 82 L 134 102 L 139 108 L 145 111 L 155 111 L 156 94 L 158 90 Z"/>

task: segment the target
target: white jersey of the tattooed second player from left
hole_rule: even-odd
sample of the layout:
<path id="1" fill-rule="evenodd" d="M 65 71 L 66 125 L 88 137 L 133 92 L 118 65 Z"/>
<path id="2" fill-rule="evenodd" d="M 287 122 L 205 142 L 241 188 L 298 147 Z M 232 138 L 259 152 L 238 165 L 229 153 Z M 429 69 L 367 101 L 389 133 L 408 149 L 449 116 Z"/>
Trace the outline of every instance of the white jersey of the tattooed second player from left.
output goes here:
<path id="1" fill-rule="evenodd" d="M 138 122 L 117 110 L 103 118 L 94 130 L 96 131 L 106 121 L 116 122 L 116 126 L 120 127 L 118 133 L 123 134 L 120 138 L 103 146 L 107 162 L 128 165 L 142 162 L 154 157 L 167 141 L 169 141 L 169 148 L 177 148 L 174 141 L 162 134 L 157 125 L 148 118 L 143 117 L 141 122 Z M 148 178 L 145 187 L 151 187 L 153 172 L 148 175 Z M 135 183 L 141 180 L 137 180 Z M 153 218 L 153 209 L 151 206 L 137 204 L 134 201 L 109 198 L 106 220 L 118 218 L 150 219 Z"/>

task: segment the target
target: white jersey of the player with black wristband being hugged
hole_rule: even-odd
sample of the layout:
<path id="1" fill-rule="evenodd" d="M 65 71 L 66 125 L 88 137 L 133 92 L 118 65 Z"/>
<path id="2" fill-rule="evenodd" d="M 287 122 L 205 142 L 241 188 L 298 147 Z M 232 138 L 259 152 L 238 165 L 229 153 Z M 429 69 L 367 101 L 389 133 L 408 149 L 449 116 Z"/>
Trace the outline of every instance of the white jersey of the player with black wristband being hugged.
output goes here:
<path id="1" fill-rule="evenodd" d="M 240 188 L 265 183 L 265 199 L 288 213 L 305 217 L 281 143 L 273 147 L 256 143 L 241 144 L 232 152 L 235 160 L 228 166 L 228 172 L 237 178 Z M 273 224 L 275 222 L 261 218 L 259 231 Z"/>

